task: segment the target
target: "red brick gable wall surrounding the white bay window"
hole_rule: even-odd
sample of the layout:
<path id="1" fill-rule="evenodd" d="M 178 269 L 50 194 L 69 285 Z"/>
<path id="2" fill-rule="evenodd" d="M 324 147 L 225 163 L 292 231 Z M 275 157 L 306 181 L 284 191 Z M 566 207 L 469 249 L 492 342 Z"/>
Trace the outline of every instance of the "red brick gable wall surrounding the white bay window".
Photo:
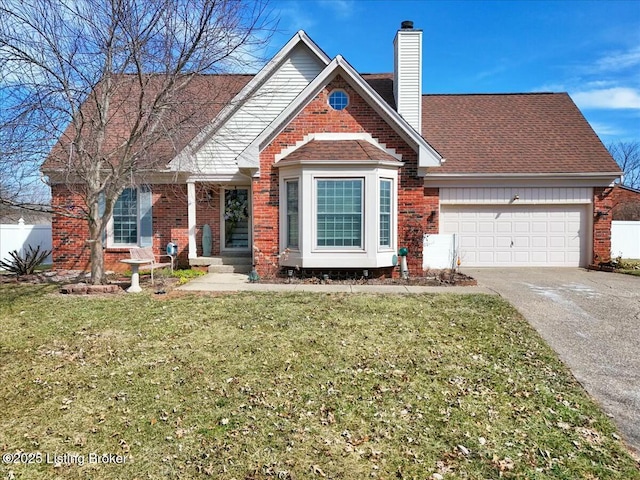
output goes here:
<path id="1" fill-rule="evenodd" d="M 327 97 L 334 88 L 349 95 L 349 106 L 333 110 Z M 417 154 L 341 77 L 336 77 L 274 138 L 260 154 L 260 178 L 253 182 L 254 258 L 261 275 L 278 265 L 279 178 L 275 155 L 310 133 L 369 133 L 402 155 L 398 178 L 398 245 L 409 249 L 412 272 L 422 271 L 422 235 L 438 231 L 438 190 L 425 189 L 417 176 Z"/>

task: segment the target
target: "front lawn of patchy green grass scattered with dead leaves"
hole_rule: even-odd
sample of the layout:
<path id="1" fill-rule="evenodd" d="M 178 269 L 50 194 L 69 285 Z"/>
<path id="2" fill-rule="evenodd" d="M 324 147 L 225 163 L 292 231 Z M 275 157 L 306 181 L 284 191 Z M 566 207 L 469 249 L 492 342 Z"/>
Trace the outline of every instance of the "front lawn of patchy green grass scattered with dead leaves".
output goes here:
<path id="1" fill-rule="evenodd" d="M 640 478 L 498 297 L 55 291 L 0 286 L 0 446 L 126 461 L 1 478 Z"/>

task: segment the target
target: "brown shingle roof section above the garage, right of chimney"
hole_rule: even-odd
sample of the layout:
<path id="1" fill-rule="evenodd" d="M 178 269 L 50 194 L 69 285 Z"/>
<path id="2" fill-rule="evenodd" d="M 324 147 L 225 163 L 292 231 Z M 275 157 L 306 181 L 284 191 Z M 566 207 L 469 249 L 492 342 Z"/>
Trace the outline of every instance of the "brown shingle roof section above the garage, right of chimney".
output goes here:
<path id="1" fill-rule="evenodd" d="M 424 95 L 435 174 L 563 174 L 620 169 L 566 93 Z"/>

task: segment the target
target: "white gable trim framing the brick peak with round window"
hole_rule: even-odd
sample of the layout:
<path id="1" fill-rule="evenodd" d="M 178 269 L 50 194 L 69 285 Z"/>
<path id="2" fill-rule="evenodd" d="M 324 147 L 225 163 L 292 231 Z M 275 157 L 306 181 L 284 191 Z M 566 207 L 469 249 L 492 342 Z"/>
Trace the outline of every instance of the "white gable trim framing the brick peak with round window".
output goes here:
<path id="1" fill-rule="evenodd" d="M 416 132 L 398 112 L 385 102 L 378 92 L 338 55 L 329 65 L 285 108 L 271 124 L 238 157 L 242 168 L 259 168 L 260 151 L 266 147 L 293 118 L 336 76 L 341 75 L 364 98 L 364 100 L 418 153 L 418 168 L 440 166 L 442 156 Z"/>

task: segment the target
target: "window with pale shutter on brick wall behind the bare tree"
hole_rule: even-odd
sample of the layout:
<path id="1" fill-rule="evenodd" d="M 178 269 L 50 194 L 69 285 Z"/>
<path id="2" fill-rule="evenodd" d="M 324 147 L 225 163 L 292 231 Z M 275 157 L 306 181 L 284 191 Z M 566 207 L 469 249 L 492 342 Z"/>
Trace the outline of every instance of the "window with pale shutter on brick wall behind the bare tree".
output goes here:
<path id="1" fill-rule="evenodd" d="M 104 204 L 104 198 L 100 202 Z M 152 218 L 152 196 L 149 186 L 125 188 L 113 207 L 108 228 L 108 245 L 152 246 Z"/>

